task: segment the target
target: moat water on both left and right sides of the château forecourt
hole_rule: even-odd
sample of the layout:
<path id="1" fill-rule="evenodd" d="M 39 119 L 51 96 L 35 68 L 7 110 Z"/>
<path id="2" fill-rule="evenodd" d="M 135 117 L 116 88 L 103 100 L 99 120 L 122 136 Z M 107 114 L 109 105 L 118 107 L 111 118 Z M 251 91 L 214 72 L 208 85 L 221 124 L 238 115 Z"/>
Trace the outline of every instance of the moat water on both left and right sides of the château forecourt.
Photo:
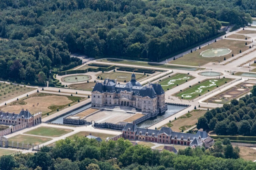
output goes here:
<path id="1" fill-rule="evenodd" d="M 57 124 L 63 124 L 63 118 L 65 118 L 65 117 L 67 117 L 69 115 L 75 115 L 75 114 L 77 114 L 79 112 L 82 112 L 82 111 L 84 111 L 84 110 L 86 110 L 86 109 L 88 109 L 90 107 L 91 107 L 91 104 L 88 104 L 88 105 L 86 105 L 84 107 L 81 107 L 81 108 L 79 108 L 77 110 L 74 110 L 74 111 L 72 111 L 72 112 L 70 112 L 68 114 L 65 114 L 65 115 L 63 115 L 63 116 L 61 116 L 61 117 L 59 117 L 59 118 L 57 118 L 57 119 L 55 119 L 55 120 L 53 120 L 51 122 L 52 123 L 57 123 Z M 159 122 L 159 121 L 161 121 L 163 119 L 166 119 L 169 116 L 172 116 L 173 114 L 175 114 L 175 113 L 185 109 L 186 106 L 167 105 L 167 108 L 168 108 L 168 110 L 165 113 L 163 113 L 163 114 L 161 114 L 159 116 L 156 116 L 155 118 L 148 119 L 148 120 L 138 124 L 138 127 L 140 127 L 140 128 L 147 128 L 149 126 L 152 126 L 153 124 L 155 124 L 155 123 L 157 123 L 157 122 Z"/>

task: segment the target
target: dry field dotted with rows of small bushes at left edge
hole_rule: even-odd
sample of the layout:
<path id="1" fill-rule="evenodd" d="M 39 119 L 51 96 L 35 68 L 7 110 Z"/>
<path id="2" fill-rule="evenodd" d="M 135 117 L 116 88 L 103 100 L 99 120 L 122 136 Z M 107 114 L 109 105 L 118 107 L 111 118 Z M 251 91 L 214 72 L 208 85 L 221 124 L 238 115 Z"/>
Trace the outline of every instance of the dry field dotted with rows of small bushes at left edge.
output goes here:
<path id="1" fill-rule="evenodd" d="M 36 88 L 32 87 L 24 87 L 24 86 L 18 86 L 18 85 L 11 85 L 7 83 L 0 83 L 0 103 L 10 100 L 14 97 L 20 96 L 22 94 L 31 92 L 32 90 L 35 90 Z"/>

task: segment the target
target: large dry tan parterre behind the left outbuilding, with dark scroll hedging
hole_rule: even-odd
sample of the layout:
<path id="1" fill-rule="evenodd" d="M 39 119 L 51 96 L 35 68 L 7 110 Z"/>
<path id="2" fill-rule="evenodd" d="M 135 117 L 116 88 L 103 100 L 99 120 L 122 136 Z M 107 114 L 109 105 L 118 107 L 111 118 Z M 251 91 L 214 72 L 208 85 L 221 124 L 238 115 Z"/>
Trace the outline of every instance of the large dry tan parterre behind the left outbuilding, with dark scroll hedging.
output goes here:
<path id="1" fill-rule="evenodd" d="M 66 105 L 81 100 L 80 97 L 74 96 L 59 96 L 45 93 L 37 93 L 33 96 L 20 99 L 12 102 L 0 109 L 10 113 L 20 113 L 22 109 L 28 109 L 31 114 L 42 112 L 46 114 L 57 109 L 63 109 Z"/>

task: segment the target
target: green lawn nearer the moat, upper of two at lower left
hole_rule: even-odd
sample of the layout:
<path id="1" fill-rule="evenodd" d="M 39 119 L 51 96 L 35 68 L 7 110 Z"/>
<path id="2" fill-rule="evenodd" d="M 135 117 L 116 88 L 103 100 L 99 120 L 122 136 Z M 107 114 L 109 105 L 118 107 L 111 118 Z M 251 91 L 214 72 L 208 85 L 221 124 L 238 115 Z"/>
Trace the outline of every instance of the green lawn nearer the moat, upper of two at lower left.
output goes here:
<path id="1" fill-rule="evenodd" d="M 30 131 L 27 131 L 25 134 L 33 134 L 40 136 L 50 136 L 50 137 L 58 137 L 63 134 L 69 133 L 73 130 L 70 129 L 58 129 L 58 128 L 47 128 L 47 127 L 39 127 Z"/>

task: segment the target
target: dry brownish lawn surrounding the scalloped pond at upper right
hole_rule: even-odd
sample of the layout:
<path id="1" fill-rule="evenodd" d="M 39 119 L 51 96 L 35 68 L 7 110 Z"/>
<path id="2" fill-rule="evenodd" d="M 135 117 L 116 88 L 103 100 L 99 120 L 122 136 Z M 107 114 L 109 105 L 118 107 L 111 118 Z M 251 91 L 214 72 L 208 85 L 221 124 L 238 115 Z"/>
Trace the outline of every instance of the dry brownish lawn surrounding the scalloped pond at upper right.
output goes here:
<path id="1" fill-rule="evenodd" d="M 250 43 L 249 41 L 247 42 Z M 229 48 L 231 49 L 231 53 L 220 56 L 220 57 L 203 57 L 200 55 L 201 52 L 212 49 L 212 48 Z M 206 45 L 202 47 L 201 49 L 198 49 L 197 51 L 193 51 L 192 53 L 188 53 L 184 55 L 183 57 L 177 58 L 176 60 L 172 60 L 169 63 L 171 64 L 181 64 L 181 65 L 191 65 L 191 66 L 203 66 L 204 64 L 207 64 L 208 62 L 219 62 L 224 60 L 224 57 L 226 59 L 232 57 L 232 53 L 234 55 L 239 54 L 239 51 L 243 52 L 247 49 L 249 49 L 248 46 L 245 45 L 245 41 L 234 41 L 234 40 L 219 40 L 217 42 L 213 42 L 209 45 Z"/>

